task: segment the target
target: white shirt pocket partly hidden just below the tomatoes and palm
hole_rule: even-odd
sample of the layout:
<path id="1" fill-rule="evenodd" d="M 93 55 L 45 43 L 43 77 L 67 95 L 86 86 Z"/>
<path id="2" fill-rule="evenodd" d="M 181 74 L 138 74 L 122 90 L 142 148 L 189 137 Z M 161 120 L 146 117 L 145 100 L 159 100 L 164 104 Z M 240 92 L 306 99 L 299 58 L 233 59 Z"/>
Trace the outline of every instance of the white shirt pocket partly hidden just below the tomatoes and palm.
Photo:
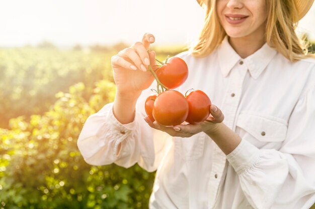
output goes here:
<path id="1" fill-rule="evenodd" d="M 196 160 L 203 155 L 205 138 L 203 132 L 189 138 L 174 137 L 175 152 L 184 160 Z"/>

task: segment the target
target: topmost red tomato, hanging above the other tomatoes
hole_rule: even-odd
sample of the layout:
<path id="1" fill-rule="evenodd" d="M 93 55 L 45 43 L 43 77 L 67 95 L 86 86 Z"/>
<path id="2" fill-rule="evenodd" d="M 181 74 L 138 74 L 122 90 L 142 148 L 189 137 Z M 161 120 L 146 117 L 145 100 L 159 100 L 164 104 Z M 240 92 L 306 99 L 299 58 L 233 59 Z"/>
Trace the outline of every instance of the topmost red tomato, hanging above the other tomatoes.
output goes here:
<path id="1" fill-rule="evenodd" d="M 175 89 L 187 80 L 188 67 L 181 58 L 172 57 L 155 73 L 163 85 L 169 89 Z"/>

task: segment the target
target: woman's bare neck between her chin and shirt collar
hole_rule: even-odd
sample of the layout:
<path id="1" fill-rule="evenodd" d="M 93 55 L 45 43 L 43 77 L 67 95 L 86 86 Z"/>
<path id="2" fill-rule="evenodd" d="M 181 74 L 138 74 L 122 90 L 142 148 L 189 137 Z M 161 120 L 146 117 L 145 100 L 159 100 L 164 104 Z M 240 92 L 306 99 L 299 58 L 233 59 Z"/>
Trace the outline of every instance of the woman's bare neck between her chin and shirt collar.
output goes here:
<path id="1" fill-rule="evenodd" d="M 240 57 L 247 58 L 264 46 L 266 39 L 265 36 L 229 37 L 228 42 Z"/>

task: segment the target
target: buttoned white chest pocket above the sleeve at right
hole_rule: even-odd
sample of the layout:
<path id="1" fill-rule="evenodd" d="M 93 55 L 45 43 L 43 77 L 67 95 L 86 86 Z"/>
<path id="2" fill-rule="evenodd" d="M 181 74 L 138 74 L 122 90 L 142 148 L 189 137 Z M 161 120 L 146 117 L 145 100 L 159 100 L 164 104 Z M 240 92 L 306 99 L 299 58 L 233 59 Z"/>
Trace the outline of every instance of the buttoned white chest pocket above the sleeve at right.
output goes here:
<path id="1" fill-rule="evenodd" d="M 237 120 L 237 129 L 241 137 L 255 142 L 282 142 L 286 138 L 287 122 L 284 119 L 261 115 L 259 113 L 241 113 Z"/>

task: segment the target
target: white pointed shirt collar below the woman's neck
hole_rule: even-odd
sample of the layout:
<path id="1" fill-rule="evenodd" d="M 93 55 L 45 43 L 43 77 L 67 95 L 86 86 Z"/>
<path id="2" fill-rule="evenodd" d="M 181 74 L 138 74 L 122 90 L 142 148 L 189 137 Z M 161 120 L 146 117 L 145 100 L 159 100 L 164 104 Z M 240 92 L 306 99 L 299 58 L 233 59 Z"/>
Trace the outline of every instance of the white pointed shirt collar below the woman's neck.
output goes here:
<path id="1" fill-rule="evenodd" d="M 254 79 L 257 79 L 276 54 L 277 51 L 272 49 L 266 43 L 254 54 L 248 56 L 245 59 L 242 59 L 228 43 L 227 36 L 223 39 L 221 45 L 218 47 L 218 60 L 222 75 L 224 77 L 226 77 L 231 69 L 242 60 L 247 66 L 251 76 Z"/>

